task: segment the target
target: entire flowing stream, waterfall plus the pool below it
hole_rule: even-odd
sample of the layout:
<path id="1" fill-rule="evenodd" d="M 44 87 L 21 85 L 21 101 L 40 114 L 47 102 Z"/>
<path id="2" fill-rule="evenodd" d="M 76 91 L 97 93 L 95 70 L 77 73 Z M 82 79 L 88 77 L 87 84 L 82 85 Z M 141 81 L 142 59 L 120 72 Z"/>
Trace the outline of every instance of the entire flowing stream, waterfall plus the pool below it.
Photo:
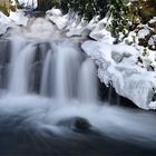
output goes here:
<path id="1" fill-rule="evenodd" d="M 130 144 L 130 152 L 136 146 L 154 149 L 156 115 L 100 101 L 97 68 L 79 42 L 21 36 L 11 36 L 6 42 L 9 48 L 3 46 L 0 50 L 0 84 L 4 84 L 0 86 L 0 153 L 29 154 L 32 144 L 35 154 L 70 150 L 71 155 L 72 148 L 88 155 L 89 149 L 94 154 L 107 154 L 108 148 L 111 154 L 110 146 L 114 148 L 118 142 L 120 150 L 125 142 Z M 21 134 L 19 140 L 17 136 Z M 13 147 L 11 139 L 18 146 L 23 140 L 25 148 Z M 109 139 L 115 142 L 110 144 Z M 40 142 L 46 145 L 42 150 Z M 119 150 L 117 147 L 115 150 Z"/>

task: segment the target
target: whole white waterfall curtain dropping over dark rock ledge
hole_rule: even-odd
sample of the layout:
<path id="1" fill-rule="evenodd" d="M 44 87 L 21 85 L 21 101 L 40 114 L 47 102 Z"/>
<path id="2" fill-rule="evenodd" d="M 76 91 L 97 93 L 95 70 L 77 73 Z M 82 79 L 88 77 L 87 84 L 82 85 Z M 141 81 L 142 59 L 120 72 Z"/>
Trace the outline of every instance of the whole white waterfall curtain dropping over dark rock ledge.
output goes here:
<path id="1" fill-rule="evenodd" d="M 36 92 L 42 97 L 60 100 L 97 100 L 96 67 L 92 60 L 81 52 L 77 43 L 68 40 L 41 42 L 42 47 L 49 45 L 41 53 L 37 48 L 38 42 L 14 38 L 19 45 L 10 38 L 12 48 L 9 66 L 9 94 L 26 96 L 31 94 L 30 88 L 35 90 L 33 87 L 36 87 L 39 89 Z M 41 70 L 32 68 L 41 68 Z"/>

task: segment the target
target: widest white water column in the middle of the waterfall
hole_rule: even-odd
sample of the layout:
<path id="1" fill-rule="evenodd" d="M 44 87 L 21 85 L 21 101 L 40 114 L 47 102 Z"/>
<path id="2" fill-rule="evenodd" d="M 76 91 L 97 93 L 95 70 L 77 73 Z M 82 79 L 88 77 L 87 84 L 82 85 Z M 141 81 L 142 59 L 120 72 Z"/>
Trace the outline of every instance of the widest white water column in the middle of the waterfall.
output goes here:
<path id="1" fill-rule="evenodd" d="M 69 47 L 68 47 L 69 46 Z M 55 55 L 55 95 L 57 98 L 72 98 L 77 89 L 77 75 L 79 70 L 79 55 L 74 47 L 59 45 Z"/>

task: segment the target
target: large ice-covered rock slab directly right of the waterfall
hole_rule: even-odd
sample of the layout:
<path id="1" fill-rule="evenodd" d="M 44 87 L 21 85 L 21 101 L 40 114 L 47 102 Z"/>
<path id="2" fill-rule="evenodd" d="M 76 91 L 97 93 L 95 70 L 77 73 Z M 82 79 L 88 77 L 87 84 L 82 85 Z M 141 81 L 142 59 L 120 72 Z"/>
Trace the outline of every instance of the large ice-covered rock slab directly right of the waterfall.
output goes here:
<path id="1" fill-rule="evenodd" d="M 156 90 L 156 74 L 137 65 L 139 51 L 131 46 L 86 41 L 82 49 L 98 65 L 98 77 L 107 86 L 134 101 L 143 109 L 153 109 L 150 103 Z"/>

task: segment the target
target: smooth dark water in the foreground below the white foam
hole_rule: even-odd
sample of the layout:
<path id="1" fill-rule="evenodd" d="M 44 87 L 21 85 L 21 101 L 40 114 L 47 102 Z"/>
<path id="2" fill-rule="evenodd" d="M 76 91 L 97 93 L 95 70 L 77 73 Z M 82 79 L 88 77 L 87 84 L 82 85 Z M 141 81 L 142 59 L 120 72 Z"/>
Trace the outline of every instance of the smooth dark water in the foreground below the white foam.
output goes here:
<path id="1" fill-rule="evenodd" d="M 64 121 L 62 121 L 64 123 Z M 48 129 L 35 128 L 21 115 L 0 117 L 1 156 L 109 156 L 156 155 L 154 146 L 136 145 L 100 135 L 89 129 L 70 129 L 57 135 Z M 61 128 L 61 127 L 60 127 Z M 67 129 L 65 129 L 67 130 Z"/>

